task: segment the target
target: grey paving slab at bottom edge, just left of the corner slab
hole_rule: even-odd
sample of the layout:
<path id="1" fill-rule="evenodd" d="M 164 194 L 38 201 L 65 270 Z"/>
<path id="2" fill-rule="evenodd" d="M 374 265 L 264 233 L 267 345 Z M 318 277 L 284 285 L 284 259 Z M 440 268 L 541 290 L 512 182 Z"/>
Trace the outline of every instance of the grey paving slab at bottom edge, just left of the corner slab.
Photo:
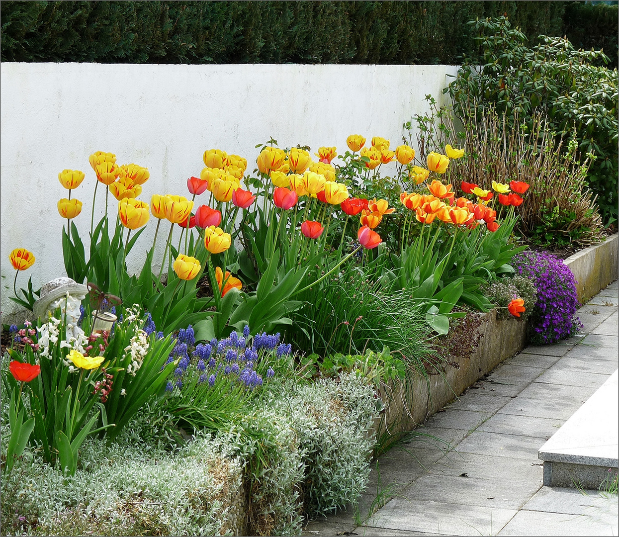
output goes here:
<path id="1" fill-rule="evenodd" d="M 515 514 L 513 509 L 396 499 L 370 518 L 367 526 L 438 535 L 495 535 Z"/>

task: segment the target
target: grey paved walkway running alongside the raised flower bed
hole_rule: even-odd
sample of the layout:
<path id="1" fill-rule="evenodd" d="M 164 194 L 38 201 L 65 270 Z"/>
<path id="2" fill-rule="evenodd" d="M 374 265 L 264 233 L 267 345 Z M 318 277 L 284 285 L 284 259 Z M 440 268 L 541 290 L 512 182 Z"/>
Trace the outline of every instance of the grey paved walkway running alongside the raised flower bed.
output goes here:
<path id="1" fill-rule="evenodd" d="M 618 367 L 617 281 L 578 336 L 529 346 L 381 456 L 357 507 L 304 535 L 618 535 L 617 494 L 542 486 L 537 451 Z"/>

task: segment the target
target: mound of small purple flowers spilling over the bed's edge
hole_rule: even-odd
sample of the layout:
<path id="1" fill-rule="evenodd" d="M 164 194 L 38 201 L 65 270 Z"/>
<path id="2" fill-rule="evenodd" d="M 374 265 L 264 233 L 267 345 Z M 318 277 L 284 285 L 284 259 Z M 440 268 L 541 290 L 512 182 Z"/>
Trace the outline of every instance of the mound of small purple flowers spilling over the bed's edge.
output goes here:
<path id="1" fill-rule="evenodd" d="M 550 253 L 523 251 L 511 261 L 517 274 L 529 277 L 537 302 L 529 318 L 529 339 L 534 344 L 555 343 L 582 328 L 578 317 L 576 281 L 569 267 Z"/>

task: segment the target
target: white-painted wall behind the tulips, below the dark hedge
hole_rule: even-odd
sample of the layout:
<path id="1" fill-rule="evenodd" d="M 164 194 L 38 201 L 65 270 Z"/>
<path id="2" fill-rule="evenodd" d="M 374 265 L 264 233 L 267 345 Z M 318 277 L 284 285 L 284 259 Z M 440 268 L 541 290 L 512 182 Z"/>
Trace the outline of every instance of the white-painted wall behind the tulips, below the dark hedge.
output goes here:
<path id="1" fill-rule="evenodd" d="M 186 195 L 186 180 L 199 175 L 202 153 L 214 147 L 246 157 L 250 172 L 258 156 L 254 146 L 271 136 L 280 147 L 300 143 L 313 152 L 319 146 L 344 152 L 348 134 L 362 134 L 368 144 L 372 136 L 383 136 L 394 149 L 404 134 L 402 124 L 428 109 L 425 95 L 440 102 L 446 75 L 457 71 L 454 66 L 84 63 L 2 63 L 0 69 L 4 314 L 16 308 L 7 298 L 13 248 L 28 248 L 37 258 L 19 275 L 18 287 L 25 287 L 30 274 L 35 289 L 64 276 L 64 220 L 56 209 L 58 199 L 67 196 L 58 181 L 64 168 L 86 173 L 72 197 L 84 203 L 74 222 L 87 240 L 96 182 L 88 162 L 93 152 L 113 152 L 118 164 L 149 168 L 140 196 L 149 202 L 155 193 Z M 100 188 L 95 222 L 104 204 Z M 129 269 L 141 267 L 154 230 L 149 222 L 128 258 Z M 155 262 L 162 255 L 163 241 Z"/>

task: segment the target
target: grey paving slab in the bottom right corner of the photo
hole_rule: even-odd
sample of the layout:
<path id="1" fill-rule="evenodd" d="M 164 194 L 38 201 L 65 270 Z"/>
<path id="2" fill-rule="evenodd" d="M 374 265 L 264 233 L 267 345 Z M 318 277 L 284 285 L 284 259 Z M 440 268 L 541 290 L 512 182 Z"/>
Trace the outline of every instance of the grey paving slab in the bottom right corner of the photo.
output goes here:
<path id="1" fill-rule="evenodd" d="M 586 515 L 521 510 L 498 535 L 617 535 L 617 523 L 599 522 Z"/>

